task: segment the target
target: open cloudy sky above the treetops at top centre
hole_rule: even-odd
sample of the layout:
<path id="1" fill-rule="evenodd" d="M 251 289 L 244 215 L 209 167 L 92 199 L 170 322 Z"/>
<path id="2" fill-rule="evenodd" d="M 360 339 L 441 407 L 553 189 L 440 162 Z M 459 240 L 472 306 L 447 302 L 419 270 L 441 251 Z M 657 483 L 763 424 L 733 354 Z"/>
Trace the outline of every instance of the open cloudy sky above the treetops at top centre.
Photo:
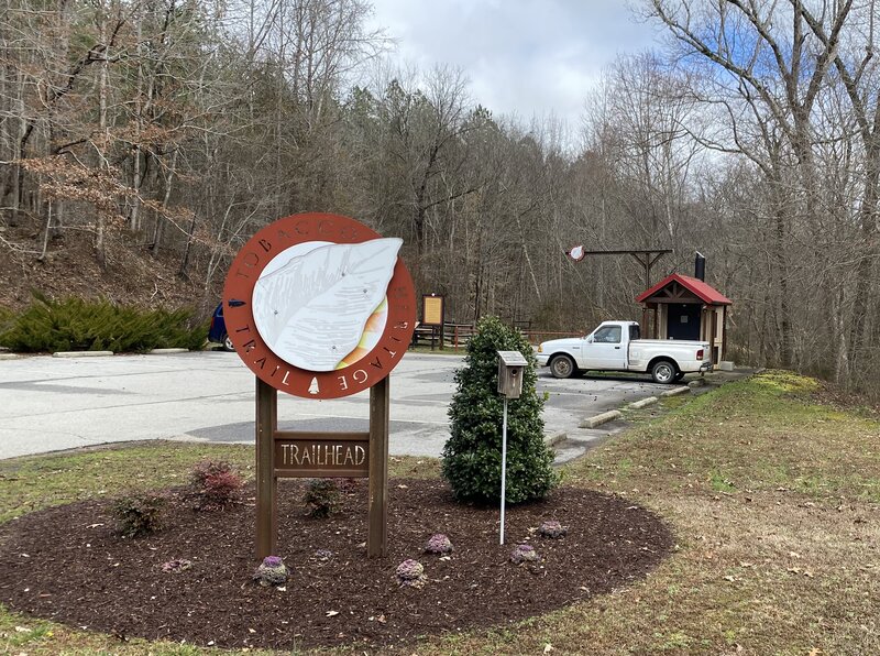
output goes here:
<path id="1" fill-rule="evenodd" d="M 494 113 L 550 112 L 576 124 L 583 100 L 618 53 L 657 46 L 624 0 L 373 0 L 394 57 L 427 70 L 458 66 Z"/>

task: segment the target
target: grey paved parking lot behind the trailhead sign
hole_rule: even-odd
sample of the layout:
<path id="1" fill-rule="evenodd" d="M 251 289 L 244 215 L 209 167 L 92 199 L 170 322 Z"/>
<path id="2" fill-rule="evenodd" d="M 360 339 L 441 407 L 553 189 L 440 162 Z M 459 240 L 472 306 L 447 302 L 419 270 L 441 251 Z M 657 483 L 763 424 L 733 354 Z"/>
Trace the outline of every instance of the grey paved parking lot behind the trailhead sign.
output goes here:
<path id="1" fill-rule="evenodd" d="M 407 353 L 392 373 L 391 452 L 439 456 L 449 436 L 447 407 L 460 357 Z M 558 381 L 549 393 L 547 434 L 601 436 L 580 420 L 661 391 L 647 376 Z M 253 442 L 254 376 L 235 353 L 0 361 L 0 458 L 106 442 L 182 439 Z M 278 395 L 287 430 L 366 430 L 369 393 L 341 400 Z"/>

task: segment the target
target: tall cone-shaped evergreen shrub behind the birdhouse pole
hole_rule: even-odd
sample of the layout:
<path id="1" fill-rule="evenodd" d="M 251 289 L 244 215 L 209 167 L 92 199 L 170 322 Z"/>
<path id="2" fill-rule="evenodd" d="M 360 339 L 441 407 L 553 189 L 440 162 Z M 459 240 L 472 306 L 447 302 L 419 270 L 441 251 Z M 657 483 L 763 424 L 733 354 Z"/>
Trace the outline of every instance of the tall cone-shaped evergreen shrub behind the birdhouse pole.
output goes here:
<path id="1" fill-rule="evenodd" d="M 451 436 L 443 447 L 443 478 L 459 501 L 501 501 L 504 397 L 497 392 L 498 351 L 519 351 L 529 362 L 520 397 L 507 405 L 506 500 L 515 504 L 542 499 L 559 482 L 553 452 L 543 441 L 543 398 L 535 386 L 531 345 L 497 317 L 484 317 L 468 342 L 464 367 L 455 372 Z"/>

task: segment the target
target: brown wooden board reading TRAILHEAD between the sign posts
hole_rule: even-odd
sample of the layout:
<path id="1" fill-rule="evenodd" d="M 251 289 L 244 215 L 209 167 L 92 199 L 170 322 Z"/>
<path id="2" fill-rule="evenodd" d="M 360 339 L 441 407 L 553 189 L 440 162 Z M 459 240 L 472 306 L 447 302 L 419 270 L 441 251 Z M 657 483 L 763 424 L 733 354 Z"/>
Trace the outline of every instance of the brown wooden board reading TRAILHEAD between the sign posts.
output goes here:
<path id="1" fill-rule="evenodd" d="M 284 478 L 367 478 L 369 433 L 275 434 L 275 475 Z"/>

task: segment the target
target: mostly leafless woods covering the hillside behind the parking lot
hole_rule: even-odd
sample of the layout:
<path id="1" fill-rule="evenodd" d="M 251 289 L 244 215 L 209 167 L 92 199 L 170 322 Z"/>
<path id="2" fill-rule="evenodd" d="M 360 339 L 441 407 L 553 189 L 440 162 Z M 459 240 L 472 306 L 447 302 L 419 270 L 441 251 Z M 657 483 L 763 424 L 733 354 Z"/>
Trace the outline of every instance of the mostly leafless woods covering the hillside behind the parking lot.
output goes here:
<path id="1" fill-rule="evenodd" d="M 635 318 L 645 284 L 571 247 L 672 249 L 654 280 L 700 250 L 733 359 L 878 393 L 880 10 L 640 10 L 668 50 L 620 57 L 575 129 L 495 116 L 459 70 L 391 72 L 365 0 L 8 0 L 2 297 L 129 284 L 208 307 L 256 229 L 324 210 L 404 238 L 455 320 L 582 329 Z"/>

